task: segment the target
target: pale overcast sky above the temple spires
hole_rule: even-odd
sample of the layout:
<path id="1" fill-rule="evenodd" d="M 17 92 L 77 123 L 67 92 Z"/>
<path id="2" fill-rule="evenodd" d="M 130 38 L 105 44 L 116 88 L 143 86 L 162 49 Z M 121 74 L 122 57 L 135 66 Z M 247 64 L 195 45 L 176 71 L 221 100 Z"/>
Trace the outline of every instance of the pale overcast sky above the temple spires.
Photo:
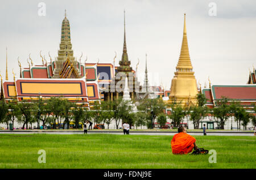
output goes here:
<path id="1" fill-rule="evenodd" d="M 38 3 L 46 4 L 39 16 Z M 217 5 L 217 16 L 209 16 L 209 3 Z M 147 53 L 150 77 L 170 89 L 183 37 L 184 12 L 189 53 L 197 82 L 246 84 L 249 68 L 256 67 L 256 2 L 251 1 L 2 1 L 0 6 L 0 72 L 5 75 L 8 48 L 9 79 L 12 69 L 19 75 L 17 58 L 26 67 L 28 54 L 41 64 L 39 52 L 52 57 L 59 49 L 64 10 L 71 25 L 75 57 L 81 52 L 88 62 L 113 62 L 122 56 L 123 10 L 126 11 L 127 53 L 135 69 L 140 59 L 143 79 Z M 84 60 L 84 59 L 83 59 Z M 151 85 L 157 85 L 152 82 Z"/>

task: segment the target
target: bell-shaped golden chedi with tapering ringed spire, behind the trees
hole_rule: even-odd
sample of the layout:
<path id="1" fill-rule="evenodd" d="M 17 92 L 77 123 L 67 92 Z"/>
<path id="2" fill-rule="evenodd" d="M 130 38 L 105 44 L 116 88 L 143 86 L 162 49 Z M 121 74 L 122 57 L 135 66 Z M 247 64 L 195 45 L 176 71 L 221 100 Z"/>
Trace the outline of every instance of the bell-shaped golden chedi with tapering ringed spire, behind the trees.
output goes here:
<path id="1" fill-rule="evenodd" d="M 176 66 L 176 72 L 174 72 L 175 76 L 172 79 L 171 93 L 169 96 L 168 104 L 173 103 L 174 101 L 181 102 L 181 106 L 197 104 L 197 84 L 194 76 L 195 72 L 192 70 L 193 67 L 189 57 L 187 29 L 184 14 L 184 31 L 180 50 L 180 58 Z"/>

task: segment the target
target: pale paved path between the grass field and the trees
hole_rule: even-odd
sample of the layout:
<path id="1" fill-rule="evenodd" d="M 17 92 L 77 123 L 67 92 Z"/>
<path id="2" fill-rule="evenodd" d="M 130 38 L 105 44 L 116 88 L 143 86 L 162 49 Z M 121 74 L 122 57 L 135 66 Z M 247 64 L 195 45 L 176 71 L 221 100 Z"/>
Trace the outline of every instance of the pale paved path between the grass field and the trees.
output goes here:
<path id="1" fill-rule="evenodd" d="M 24 131 L 8 131 L 1 130 L 0 134 L 83 134 L 84 131 L 44 131 L 44 130 L 24 130 Z M 88 134 L 119 134 L 122 131 L 88 131 Z M 131 135 L 175 135 L 177 132 L 171 131 L 130 131 Z M 190 135 L 203 136 L 203 132 L 188 132 Z M 214 131 L 207 132 L 208 136 L 254 136 L 253 132 L 230 132 L 230 131 Z M 256 137 L 255 137 L 256 138 Z"/>

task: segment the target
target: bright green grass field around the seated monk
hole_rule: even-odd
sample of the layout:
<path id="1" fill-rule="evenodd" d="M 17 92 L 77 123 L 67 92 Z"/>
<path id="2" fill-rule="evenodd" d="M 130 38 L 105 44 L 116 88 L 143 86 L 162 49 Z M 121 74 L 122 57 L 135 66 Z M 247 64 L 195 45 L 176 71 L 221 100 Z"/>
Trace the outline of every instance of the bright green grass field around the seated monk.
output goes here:
<path id="1" fill-rule="evenodd" d="M 172 136 L 0 134 L 0 168 L 255 168 L 256 137 L 195 136 L 210 155 L 172 155 Z M 38 151 L 46 151 L 39 164 Z"/>

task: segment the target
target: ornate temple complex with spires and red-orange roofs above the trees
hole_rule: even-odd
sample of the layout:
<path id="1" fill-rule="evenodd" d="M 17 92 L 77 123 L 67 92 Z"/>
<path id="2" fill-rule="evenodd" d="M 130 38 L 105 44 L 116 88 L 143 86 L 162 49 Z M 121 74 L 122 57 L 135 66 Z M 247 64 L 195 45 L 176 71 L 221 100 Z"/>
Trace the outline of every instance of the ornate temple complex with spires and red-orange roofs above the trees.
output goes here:
<path id="1" fill-rule="evenodd" d="M 208 98 L 207 106 L 214 108 L 216 101 L 222 97 L 228 97 L 240 101 L 245 108 L 250 109 L 256 103 L 256 71 L 250 71 L 249 80 L 244 85 L 210 84 L 209 88 L 197 88 L 193 72 L 191 58 L 189 56 L 187 29 L 184 14 L 183 41 L 181 44 L 180 57 L 177 62 L 176 72 L 171 82 L 170 90 L 162 86 L 150 86 L 148 82 L 147 55 L 144 71 L 144 82 L 138 82 L 137 69 L 133 70 L 129 61 L 126 45 L 124 12 L 124 36 L 122 58 L 119 66 L 113 62 L 101 63 L 88 62 L 88 59 L 76 58 L 71 44 L 71 28 L 67 14 L 61 24 L 60 49 L 57 57 L 52 59 L 48 53 L 48 60 L 40 52 L 42 63 L 35 65 L 34 57 L 28 55 L 27 66 L 22 66 L 18 58 L 20 69 L 19 76 L 14 79 L 8 78 L 7 48 L 6 48 L 6 78 L 1 76 L 1 96 L 7 101 L 16 98 L 22 100 L 38 100 L 52 96 L 63 96 L 69 101 L 93 108 L 95 101 L 109 101 L 123 97 L 126 87 L 126 97 L 132 101 L 143 98 L 163 98 L 167 104 L 177 102 L 181 106 L 196 105 L 197 93 L 202 92 Z M 121 76 L 120 76 L 121 74 Z M 126 78 L 128 78 L 126 80 Z M 125 81 L 127 81 L 125 83 Z M 118 88 L 120 87 L 120 88 Z M 129 89 L 127 89 L 127 87 Z M 129 93 L 129 94 L 128 94 Z"/>

